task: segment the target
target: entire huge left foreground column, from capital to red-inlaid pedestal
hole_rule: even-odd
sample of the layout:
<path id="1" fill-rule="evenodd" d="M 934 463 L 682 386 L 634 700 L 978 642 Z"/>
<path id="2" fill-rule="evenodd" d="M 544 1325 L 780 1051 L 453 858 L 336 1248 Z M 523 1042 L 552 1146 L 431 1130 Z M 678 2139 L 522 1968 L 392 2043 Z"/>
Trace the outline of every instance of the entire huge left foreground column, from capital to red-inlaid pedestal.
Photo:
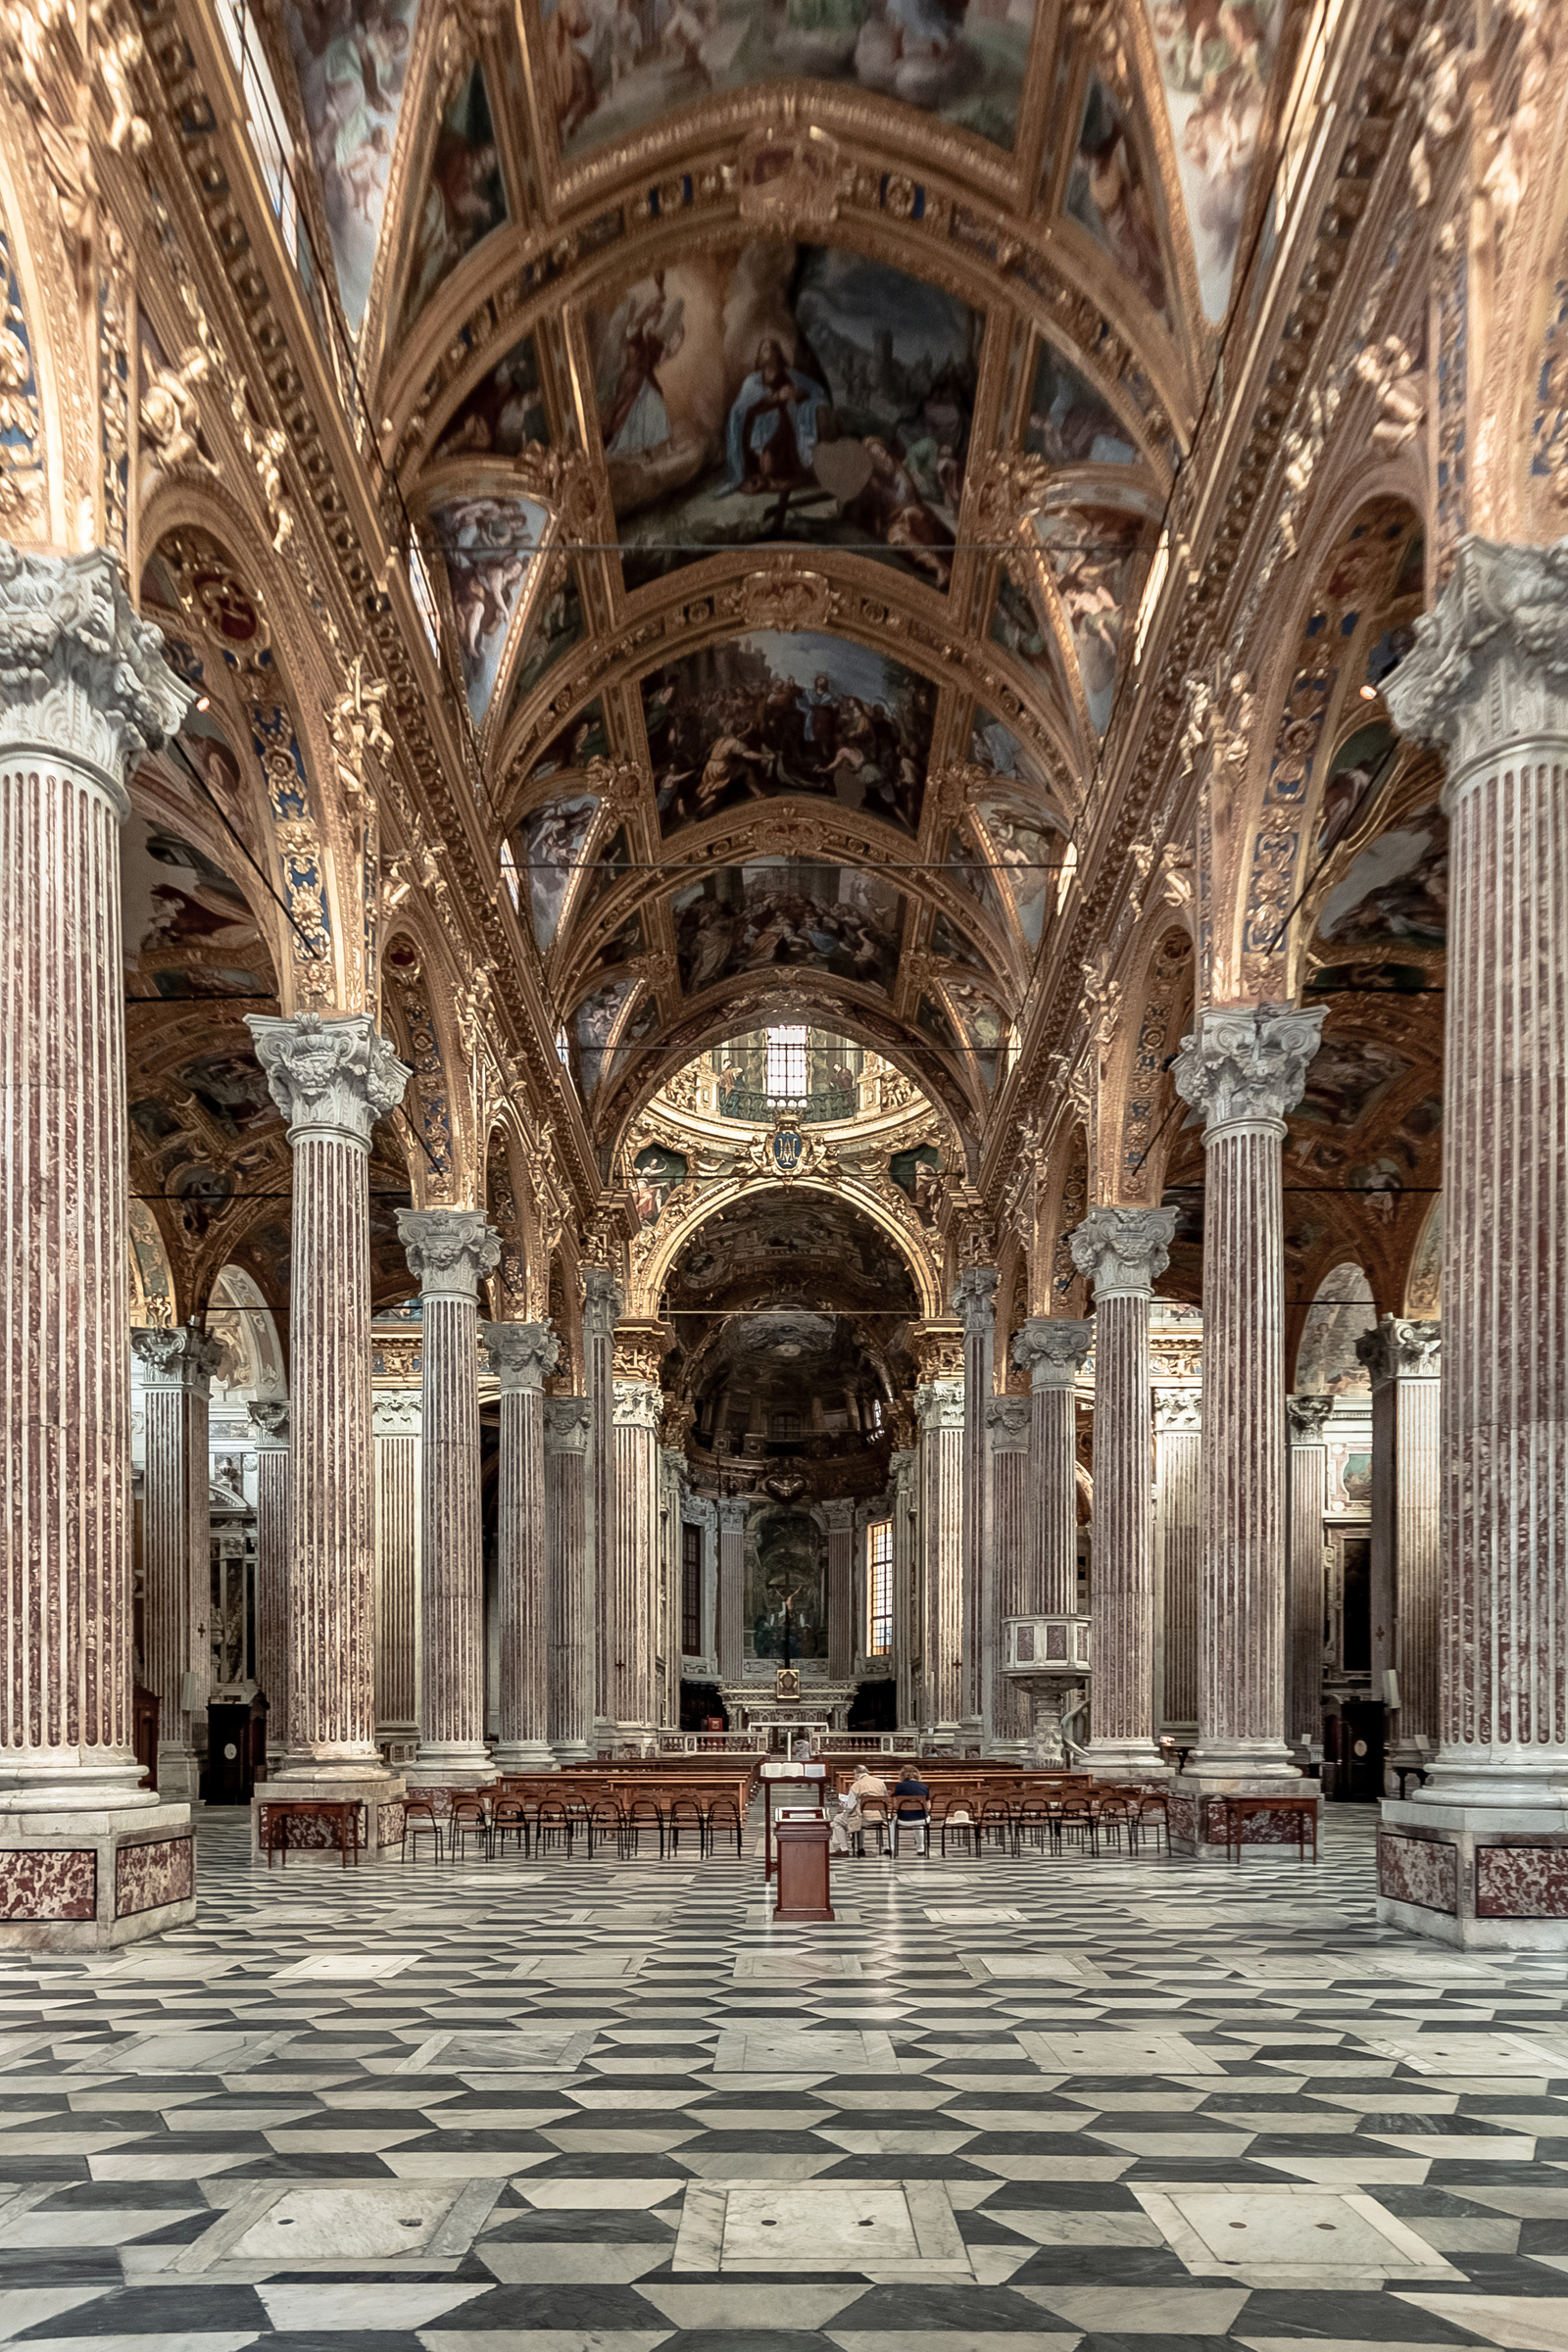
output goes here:
<path id="1" fill-rule="evenodd" d="M 115 564 L 0 541 L 0 1947 L 195 1917 L 132 1738 L 125 769 L 190 701 Z"/>

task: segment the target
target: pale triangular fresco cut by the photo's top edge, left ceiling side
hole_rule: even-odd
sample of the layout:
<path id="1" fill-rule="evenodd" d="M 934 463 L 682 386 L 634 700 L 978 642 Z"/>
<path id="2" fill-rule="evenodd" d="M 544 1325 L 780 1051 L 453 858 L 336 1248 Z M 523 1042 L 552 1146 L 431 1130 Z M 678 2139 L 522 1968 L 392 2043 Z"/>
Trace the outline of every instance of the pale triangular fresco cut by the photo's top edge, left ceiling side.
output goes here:
<path id="1" fill-rule="evenodd" d="M 418 0 L 287 0 L 284 24 L 322 183 L 339 294 L 364 318 Z"/>

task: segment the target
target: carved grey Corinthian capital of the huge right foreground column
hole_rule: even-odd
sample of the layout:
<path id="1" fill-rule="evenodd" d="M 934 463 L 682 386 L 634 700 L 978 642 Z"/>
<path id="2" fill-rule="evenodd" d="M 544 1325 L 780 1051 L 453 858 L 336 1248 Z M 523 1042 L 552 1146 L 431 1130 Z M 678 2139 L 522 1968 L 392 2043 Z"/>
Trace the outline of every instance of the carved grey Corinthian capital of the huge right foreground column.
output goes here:
<path id="1" fill-rule="evenodd" d="M 1382 699 L 1401 734 L 1448 753 L 1450 786 L 1507 743 L 1568 736 L 1568 539 L 1460 539 L 1448 586 Z"/>

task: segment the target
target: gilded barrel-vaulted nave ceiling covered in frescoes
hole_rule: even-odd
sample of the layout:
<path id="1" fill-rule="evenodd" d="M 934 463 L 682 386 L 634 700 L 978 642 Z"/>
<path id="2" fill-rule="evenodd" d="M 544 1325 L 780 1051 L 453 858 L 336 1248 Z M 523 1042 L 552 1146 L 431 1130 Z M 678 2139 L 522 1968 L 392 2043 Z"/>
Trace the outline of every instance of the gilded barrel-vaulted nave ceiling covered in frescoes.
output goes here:
<path id="1" fill-rule="evenodd" d="M 788 1000 L 978 1136 L 1267 252 L 1284 0 L 282 21 L 590 1127 Z"/>

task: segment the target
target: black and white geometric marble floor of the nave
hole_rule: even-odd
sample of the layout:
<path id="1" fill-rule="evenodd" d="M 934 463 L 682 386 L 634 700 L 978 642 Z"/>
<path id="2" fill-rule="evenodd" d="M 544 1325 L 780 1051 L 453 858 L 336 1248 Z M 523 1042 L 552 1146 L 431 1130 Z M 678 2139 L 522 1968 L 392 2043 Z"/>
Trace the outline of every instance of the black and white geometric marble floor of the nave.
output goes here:
<path id="1" fill-rule="evenodd" d="M 0 2343 L 1568 2352 L 1568 1980 L 1324 1860 L 254 1870 L 0 1957 Z"/>

